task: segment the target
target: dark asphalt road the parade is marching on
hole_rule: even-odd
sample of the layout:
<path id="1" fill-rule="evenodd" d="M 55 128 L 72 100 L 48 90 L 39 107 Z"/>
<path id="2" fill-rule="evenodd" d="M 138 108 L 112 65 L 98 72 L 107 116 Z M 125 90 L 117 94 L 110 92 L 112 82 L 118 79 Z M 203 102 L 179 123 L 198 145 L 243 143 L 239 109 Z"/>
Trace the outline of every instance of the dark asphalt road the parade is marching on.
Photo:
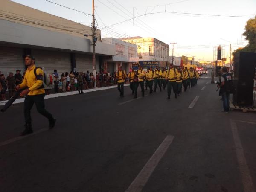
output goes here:
<path id="1" fill-rule="evenodd" d="M 0 192 L 255 192 L 256 114 L 221 112 L 215 90 L 205 75 L 178 99 L 129 87 L 47 99 L 56 128 L 34 107 L 22 139 L 13 105 L 0 114 Z"/>

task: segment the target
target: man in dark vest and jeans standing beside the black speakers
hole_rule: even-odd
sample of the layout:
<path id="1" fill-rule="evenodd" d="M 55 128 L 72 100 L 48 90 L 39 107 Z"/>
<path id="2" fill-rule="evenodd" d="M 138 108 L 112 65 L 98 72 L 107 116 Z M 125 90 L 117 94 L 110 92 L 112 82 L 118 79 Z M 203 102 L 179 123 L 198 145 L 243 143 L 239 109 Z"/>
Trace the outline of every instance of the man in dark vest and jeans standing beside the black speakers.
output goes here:
<path id="1" fill-rule="evenodd" d="M 229 112 L 229 96 L 233 88 L 233 81 L 232 76 L 230 73 L 227 72 L 227 68 L 222 68 L 222 75 L 221 75 L 221 85 L 219 86 L 221 88 L 221 97 L 223 101 L 223 108 L 224 111 L 228 113 Z"/>

